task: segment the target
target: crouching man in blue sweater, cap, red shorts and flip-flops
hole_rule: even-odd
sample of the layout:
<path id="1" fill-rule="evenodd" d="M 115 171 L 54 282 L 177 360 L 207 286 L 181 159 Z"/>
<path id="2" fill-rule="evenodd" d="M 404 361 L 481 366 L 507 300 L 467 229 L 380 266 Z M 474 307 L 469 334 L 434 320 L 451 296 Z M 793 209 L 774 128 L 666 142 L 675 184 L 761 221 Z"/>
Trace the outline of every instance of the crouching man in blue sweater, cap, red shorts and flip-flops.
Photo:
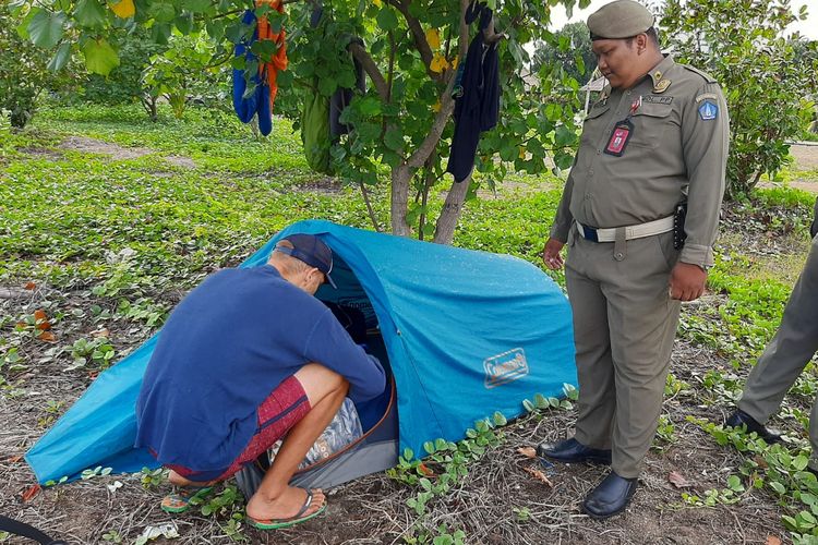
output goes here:
<path id="1" fill-rule="evenodd" d="M 282 437 L 248 522 L 284 528 L 324 510 L 322 491 L 289 481 L 344 398 L 372 399 L 386 383 L 381 363 L 313 296 L 335 286 L 332 267 L 318 238 L 292 234 L 265 266 L 220 270 L 171 313 L 136 402 L 136 447 L 176 485 L 164 510 L 187 510 Z"/>

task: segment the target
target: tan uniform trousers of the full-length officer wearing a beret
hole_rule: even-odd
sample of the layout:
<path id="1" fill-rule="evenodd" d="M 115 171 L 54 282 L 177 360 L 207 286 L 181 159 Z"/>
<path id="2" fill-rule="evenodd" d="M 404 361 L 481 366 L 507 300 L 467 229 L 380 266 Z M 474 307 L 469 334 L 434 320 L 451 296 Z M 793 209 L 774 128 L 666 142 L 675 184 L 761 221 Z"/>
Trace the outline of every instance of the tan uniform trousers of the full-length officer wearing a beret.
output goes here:
<path id="1" fill-rule="evenodd" d="M 565 267 L 579 378 L 576 439 L 612 449 L 612 469 L 639 475 L 662 409 L 679 302 L 670 299 L 673 233 L 591 242 L 573 227 Z"/>

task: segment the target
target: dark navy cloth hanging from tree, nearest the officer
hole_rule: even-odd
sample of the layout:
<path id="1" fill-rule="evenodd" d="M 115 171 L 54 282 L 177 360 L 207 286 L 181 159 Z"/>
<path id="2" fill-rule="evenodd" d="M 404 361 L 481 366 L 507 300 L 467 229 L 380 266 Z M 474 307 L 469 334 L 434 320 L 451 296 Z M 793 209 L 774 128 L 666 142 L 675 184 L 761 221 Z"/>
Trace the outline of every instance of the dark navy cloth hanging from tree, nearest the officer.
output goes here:
<path id="1" fill-rule="evenodd" d="M 477 36 L 469 45 L 462 76 L 455 92 L 455 135 L 448 157 L 447 172 L 456 182 L 466 180 L 474 168 L 480 133 L 497 124 L 500 114 L 500 56 L 497 44 L 486 44 L 483 31 L 492 22 L 492 10 L 472 2 L 466 12 L 466 23 L 480 16 Z M 459 74 L 458 74 L 459 75 Z"/>

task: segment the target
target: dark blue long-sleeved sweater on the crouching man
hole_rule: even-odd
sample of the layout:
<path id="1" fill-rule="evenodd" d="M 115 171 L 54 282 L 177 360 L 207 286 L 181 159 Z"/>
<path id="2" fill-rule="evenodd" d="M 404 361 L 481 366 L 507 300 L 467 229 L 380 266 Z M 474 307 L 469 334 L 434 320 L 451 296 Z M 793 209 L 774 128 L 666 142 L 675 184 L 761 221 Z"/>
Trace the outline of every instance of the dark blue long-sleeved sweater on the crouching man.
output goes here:
<path id="1" fill-rule="evenodd" d="M 160 463 L 227 468 L 256 432 L 256 409 L 309 362 L 349 380 L 349 397 L 384 391 L 381 363 L 321 301 L 270 266 L 224 269 L 163 327 L 136 401 L 136 447 Z"/>

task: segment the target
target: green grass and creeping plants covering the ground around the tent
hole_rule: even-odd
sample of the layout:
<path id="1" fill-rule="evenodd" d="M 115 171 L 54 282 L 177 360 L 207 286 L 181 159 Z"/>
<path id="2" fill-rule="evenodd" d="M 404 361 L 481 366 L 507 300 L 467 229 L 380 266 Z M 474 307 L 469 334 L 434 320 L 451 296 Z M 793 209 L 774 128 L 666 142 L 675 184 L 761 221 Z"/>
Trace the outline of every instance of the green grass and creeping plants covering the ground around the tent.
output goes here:
<path id="1" fill-rule="evenodd" d="M 184 120 L 164 112 L 151 123 L 133 106 L 53 107 L 26 131 L 0 126 L 0 288 L 21 290 L 31 282 L 37 294 L 17 306 L 0 300 L 0 401 L 15 408 L 36 395 L 28 377 L 44 368 L 62 370 L 57 373 L 64 376 L 57 378 L 79 392 L 155 331 L 207 274 L 237 264 L 293 221 L 323 218 L 371 229 L 360 193 L 311 173 L 291 124 L 276 120 L 274 126 L 270 137 L 260 140 L 225 112 L 191 108 Z M 95 142 L 112 155 L 89 153 Z M 120 154 L 112 144 L 131 153 Z M 178 157 L 192 162 L 175 161 Z M 496 193 L 481 192 L 483 197 L 467 203 L 455 244 L 541 266 L 561 181 L 509 180 Z M 375 189 L 373 199 L 378 222 L 387 225 L 387 191 Z M 727 468 L 736 479 L 687 499 L 678 493 L 675 501 L 683 509 L 738 508 L 753 498 L 778 509 L 779 529 L 792 532 L 795 541 L 818 535 L 809 522 L 818 501 L 811 502 L 813 481 L 801 474 L 798 458 L 806 452 L 802 426 L 818 390 L 811 368 L 781 412 L 795 438 L 790 450 L 770 453 L 738 432 L 723 431 L 718 417 L 705 417 L 701 408 L 712 412 L 735 402 L 749 365 L 778 327 L 808 247 L 813 202 L 805 192 L 773 187 L 727 208 L 710 274 L 711 295 L 685 306 L 679 328 L 681 343 L 712 360 L 708 366 L 674 371 L 678 378 L 669 382 L 667 392 L 672 407 L 682 409 L 663 415 L 657 439 L 657 449 L 665 453 L 684 448 L 690 433 L 707 434 L 715 448 L 739 447 L 747 456 Z M 441 204 L 435 194 L 431 208 Z M 563 282 L 561 274 L 550 274 Z M 45 313 L 49 329 L 35 310 Z M 55 332 L 52 341 L 44 341 L 46 331 Z M 65 409 L 61 396 L 67 392 L 41 400 L 34 435 Z M 687 423 L 685 411 L 693 419 Z M 525 425 L 540 422 L 532 417 Z M 769 457 L 767 469 L 755 461 L 759 456 Z M 450 520 L 445 531 L 431 522 L 440 518 L 431 514 L 433 509 L 445 508 L 453 494 L 459 492 L 442 492 L 437 507 L 424 507 L 426 518 L 411 519 L 411 535 L 454 535 Z M 416 504 L 407 516 L 420 517 L 418 497 L 409 493 Z M 524 506 L 520 498 L 515 502 L 510 523 L 529 523 L 532 512 L 541 516 L 540 507 Z M 230 506 L 222 507 L 233 522 L 229 532 L 221 531 L 241 536 Z"/>

